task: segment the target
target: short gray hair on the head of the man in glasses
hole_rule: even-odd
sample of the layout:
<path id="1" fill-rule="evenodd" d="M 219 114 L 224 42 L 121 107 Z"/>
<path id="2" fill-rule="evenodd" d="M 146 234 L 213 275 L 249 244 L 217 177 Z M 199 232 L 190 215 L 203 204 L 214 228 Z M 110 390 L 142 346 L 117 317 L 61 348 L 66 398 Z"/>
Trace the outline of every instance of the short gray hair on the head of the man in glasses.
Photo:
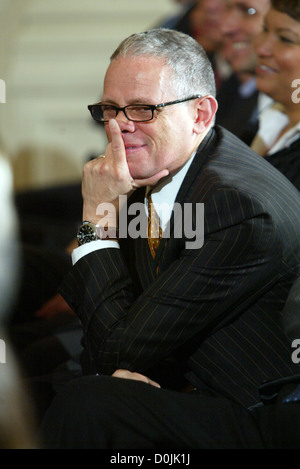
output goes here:
<path id="1" fill-rule="evenodd" d="M 216 95 L 214 72 L 203 47 L 179 31 L 157 28 L 124 39 L 110 60 L 127 55 L 157 57 L 172 71 L 172 89 L 180 96 Z"/>

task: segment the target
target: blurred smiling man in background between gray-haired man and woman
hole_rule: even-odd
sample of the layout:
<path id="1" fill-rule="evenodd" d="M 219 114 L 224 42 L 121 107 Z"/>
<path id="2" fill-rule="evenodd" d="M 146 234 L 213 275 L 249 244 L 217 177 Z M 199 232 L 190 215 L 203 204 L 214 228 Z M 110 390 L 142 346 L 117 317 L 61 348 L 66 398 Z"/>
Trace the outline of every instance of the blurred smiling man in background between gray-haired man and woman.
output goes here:
<path id="1" fill-rule="evenodd" d="M 225 0 L 222 54 L 232 75 L 219 90 L 216 123 L 251 144 L 257 132 L 258 96 L 254 39 L 261 32 L 269 0 Z"/>

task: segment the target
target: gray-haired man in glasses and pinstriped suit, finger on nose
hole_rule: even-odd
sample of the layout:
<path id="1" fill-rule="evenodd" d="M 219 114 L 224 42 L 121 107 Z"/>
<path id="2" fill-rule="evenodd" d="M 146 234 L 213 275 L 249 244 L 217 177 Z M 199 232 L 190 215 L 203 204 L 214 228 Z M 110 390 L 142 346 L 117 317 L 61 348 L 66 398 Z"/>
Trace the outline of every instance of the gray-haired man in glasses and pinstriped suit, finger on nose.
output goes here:
<path id="1" fill-rule="evenodd" d="M 299 276 L 300 196 L 214 126 L 214 92 L 183 33 L 134 34 L 112 55 L 89 106 L 108 145 L 83 170 L 61 287 L 88 366 L 48 409 L 45 447 L 264 446 L 258 387 L 299 372 L 281 310 Z"/>

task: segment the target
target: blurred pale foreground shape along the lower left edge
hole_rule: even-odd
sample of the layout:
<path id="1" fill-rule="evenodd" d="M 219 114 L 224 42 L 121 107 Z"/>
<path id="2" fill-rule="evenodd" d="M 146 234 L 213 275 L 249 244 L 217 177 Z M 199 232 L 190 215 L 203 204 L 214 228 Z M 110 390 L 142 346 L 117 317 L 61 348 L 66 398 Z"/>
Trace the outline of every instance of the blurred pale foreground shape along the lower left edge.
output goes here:
<path id="1" fill-rule="evenodd" d="M 19 285 L 19 248 L 17 218 L 12 202 L 12 175 L 1 155 L 0 212 L 0 449 L 34 448 L 33 408 L 6 333 Z"/>

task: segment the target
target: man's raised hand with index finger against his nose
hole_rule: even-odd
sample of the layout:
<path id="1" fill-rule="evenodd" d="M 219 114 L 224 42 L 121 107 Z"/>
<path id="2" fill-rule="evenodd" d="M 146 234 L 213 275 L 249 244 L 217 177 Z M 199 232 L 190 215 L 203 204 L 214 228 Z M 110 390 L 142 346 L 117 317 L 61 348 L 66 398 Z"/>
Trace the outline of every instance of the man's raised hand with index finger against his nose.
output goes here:
<path id="1" fill-rule="evenodd" d="M 111 137 L 105 158 L 96 158 L 85 164 L 83 169 L 82 196 L 83 219 L 98 223 L 97 208 L 100 204 L 112 204 L 112 216 L 118 215 L 119 195 L 130 195 L 137 187 L 155 185 L 169 174 L 167 169 L 147 179 L 133 179 L 126 160 L 126 151 L 120 127 L 115 119 L 107 124 Z M 98 209 L 99 211 L 99 209 Z M 108 214 L 108 217 L 110 215 Z M 116 226 L 114 220 L 110 226 Z"/>

